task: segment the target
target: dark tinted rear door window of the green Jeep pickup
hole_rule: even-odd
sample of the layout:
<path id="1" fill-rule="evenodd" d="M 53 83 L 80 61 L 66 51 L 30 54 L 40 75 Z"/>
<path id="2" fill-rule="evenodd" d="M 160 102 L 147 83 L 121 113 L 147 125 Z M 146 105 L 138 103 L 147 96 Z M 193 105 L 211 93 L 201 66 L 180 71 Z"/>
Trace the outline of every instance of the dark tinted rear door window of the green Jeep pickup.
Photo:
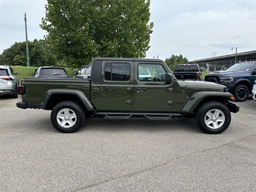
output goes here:
<path id="1" fill-rule="evenodd" d="M 128 63 L 106 63 L 105 80 L 128 81 L 130 80 L 130 64 Z"/>

